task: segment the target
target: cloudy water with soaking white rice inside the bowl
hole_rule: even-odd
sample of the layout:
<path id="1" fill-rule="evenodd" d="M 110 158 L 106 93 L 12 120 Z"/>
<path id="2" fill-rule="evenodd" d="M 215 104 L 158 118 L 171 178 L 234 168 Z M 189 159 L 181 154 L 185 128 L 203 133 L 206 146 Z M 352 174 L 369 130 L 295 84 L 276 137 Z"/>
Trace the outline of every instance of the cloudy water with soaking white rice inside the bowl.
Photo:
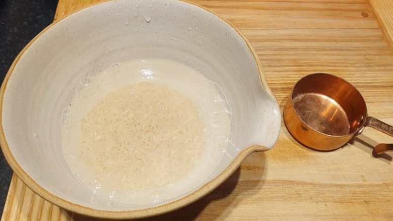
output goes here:
<path id="1" fill-rule="evenodd" d="M 76 179 L 95 195 L 139 204 L 198 187 L 231 142 L 220 86 L 181 63 L 116 63 L 81 78 L 61 116 Z"/>

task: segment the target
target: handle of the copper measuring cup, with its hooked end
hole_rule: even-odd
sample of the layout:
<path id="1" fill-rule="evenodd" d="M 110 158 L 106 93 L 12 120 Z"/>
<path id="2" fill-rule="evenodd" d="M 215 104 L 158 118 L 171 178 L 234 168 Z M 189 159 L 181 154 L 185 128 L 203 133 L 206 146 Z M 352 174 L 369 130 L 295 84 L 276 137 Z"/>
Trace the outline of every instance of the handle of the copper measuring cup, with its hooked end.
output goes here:
<path id="1" fill-rule="evenodd" d="M 364 126 L 374 128 L 375 130 L 393 137 L 393 127 L 376 118 L 367 117 Z M 393 151 L 393 144 L 380 143 L 374 148 L 376 154 L 381 154 L 385 151 Z"/>

